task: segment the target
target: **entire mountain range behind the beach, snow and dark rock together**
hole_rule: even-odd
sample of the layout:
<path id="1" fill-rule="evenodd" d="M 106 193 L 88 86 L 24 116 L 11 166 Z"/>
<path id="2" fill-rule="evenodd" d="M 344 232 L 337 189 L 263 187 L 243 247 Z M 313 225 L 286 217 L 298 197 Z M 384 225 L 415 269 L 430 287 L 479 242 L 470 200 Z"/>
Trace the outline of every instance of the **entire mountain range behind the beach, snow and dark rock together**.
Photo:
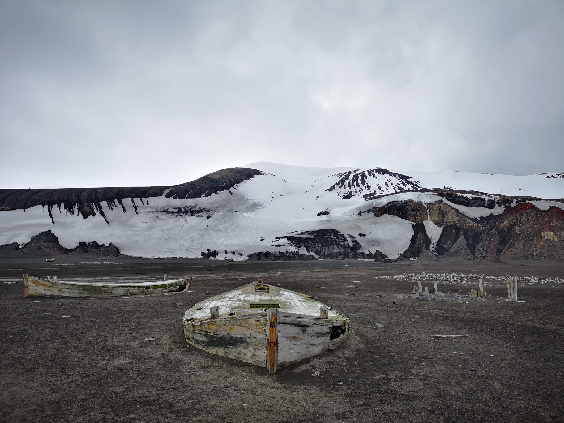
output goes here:
<path id="1" fill-rule="evenodd" d="M 259 162 L 170 187 L 0 190 L 0 257 L 563 258 L 563 197 L 556 173 Z"/>

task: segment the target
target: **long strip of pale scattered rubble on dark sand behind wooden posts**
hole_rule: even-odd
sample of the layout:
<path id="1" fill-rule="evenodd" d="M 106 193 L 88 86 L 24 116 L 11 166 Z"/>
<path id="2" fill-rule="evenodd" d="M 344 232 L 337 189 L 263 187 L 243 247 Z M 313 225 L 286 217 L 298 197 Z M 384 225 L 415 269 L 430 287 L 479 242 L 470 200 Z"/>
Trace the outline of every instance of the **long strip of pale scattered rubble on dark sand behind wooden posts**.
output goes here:
<path id="1" fill-rule="evenodd" d="M 484 274 L 463 274 L 463 273 L 402 273 L 400 275 L 382 275 L 374 276 L 376 279 L 391 280 L 413 280 L 413 281 L 437 281 L 440 284 L 478 284 L 478 279 L 483 280 L 484 286 L 492 287 L 495 285 L 505 285 L 504 276 L 486 276 Z M 537 276 L 518 276 L 519 284 L 562 284 L 564 279 L 559 276 L 554 277 L 537 277 Z"/>

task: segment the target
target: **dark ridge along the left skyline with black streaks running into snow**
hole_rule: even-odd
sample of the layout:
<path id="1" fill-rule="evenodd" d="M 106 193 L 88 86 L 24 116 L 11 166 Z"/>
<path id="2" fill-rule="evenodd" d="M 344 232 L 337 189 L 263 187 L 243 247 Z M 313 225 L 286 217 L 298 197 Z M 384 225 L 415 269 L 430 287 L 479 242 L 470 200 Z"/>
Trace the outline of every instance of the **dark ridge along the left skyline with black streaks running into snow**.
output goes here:
<path id="1" fill-rule="evenodd" d="M 100 214 L 106 222 L 102 203 L 105 202 L 110 210 L 121 207 L 124 213 L 126 208 L 124 199 L 131 199 L 131 206 L 137 213 L 135 199 L 141 204 L 149 201 L 151 197 L 160 197 L 168 190 L 166 197 L 174 199 L 196 199 L 209 197 L 213 193 L 229 191 L 237 184 L 251 179 L 262 172 L 249 168 L 228 168 L 210 173 L 199 179 L 184 184 L 168 187 L 114 187 L 114 188 L 37 188 L 0 190 L 0 211 L 29 209 L 35 206 L 47 207 L 51 221 L 55 224 L 52 209 L 64 208 L 67 213 L 81 214 L 83 218 Z"/>

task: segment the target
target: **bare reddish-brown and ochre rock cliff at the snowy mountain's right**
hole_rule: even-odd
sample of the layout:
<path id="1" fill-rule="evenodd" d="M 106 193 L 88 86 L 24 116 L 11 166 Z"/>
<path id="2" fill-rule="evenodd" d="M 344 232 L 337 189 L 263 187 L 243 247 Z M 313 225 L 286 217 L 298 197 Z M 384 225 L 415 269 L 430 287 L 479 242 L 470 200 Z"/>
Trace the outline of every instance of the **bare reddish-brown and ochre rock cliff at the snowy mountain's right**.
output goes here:
<path id="1" fill-rule="evenodd" d="M 474 202 L 484 207 L 488 204 Z M 425 210 L 425 212 L 424 212 Z M 550 258 L 564 259 L 564 210 L 540 210 L 529 202 L 505 206 L 503 213 L 469 218 L 459 210 L 437 201 L 422 204 L 412 200 L 394 201 L 371 210 L 376 216 L 390 214 L 414 222 L 413 236 L 401 258 L 434 259 L 430 239 L 422 222 L 429 220 L 442 228 L 435 247 L 437 257 L 462 258 Z"/>

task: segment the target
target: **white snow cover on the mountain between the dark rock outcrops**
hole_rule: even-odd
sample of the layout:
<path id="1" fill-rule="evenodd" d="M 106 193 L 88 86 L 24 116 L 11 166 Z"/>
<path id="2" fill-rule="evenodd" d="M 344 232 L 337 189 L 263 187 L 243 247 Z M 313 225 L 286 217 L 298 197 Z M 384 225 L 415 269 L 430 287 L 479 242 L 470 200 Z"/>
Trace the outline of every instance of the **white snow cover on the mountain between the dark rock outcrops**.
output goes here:
<path id="1" fill-rule="evenodd" d="M 376 250 L 396 258 L 406 250 L 413 236 L 413 222 L 384 214 L 363 213 L 392 201 L 442 200 L 469 218 L 500 214 L 493 208 L 469 207 L 451 202 L 421 188 L 449 188 L 492 195 L 533 196 L 539 209 L 564 203 L 544 199 L 564 197 L 564 175 L 490 175 L 462 172 L 410 172 L 359 168 L 305 168 L 258 162 L 245 168 L 263 174 L 244 180 L 227 191 L 196 199 L 149 197 L 143 204 L 122 199 L 124 209 L 102 203 L 105 219 L 96 213 L 83 218 L 64 208 L 45 207 L 0 211 L 0 245 L 24 245 L 34 235 L 51 230 L 65 248 L 80 241 L 113 243 L 123 254 L 144 257 L 200 257 L 218 252 L 217 259 L 245 260 L 256 252 L 298 252 L 306 248 L 290 245 L 285 237 L 305 231 L 334 229 L 349 245 L 359 243 L 359 252 Z M 556 175 L 556 176 L 555 176 Z M 471 197 L 471 194 L 461 194 Z M 514 203 L 513 203 L 514 204 Z M 426 221 L 431 251 L 442 227 Z"/>

